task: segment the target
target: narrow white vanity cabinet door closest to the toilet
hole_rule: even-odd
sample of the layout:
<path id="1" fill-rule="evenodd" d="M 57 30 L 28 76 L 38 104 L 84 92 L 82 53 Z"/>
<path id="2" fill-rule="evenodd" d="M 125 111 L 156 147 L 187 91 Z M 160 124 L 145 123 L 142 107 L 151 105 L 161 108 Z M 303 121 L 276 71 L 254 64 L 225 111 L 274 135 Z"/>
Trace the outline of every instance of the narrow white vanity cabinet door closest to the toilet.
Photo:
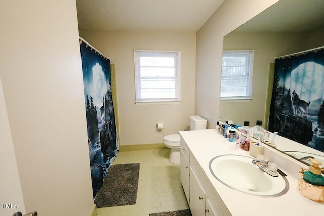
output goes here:
<path id="1" fill-rule="evenodd" d="M 189 174 L 190 174 L 190 163 L 185 157 L 184 152 L 180 149 L 180 180 L 188 203 L 189 203 L 189 193 L 190 193 Z"/>

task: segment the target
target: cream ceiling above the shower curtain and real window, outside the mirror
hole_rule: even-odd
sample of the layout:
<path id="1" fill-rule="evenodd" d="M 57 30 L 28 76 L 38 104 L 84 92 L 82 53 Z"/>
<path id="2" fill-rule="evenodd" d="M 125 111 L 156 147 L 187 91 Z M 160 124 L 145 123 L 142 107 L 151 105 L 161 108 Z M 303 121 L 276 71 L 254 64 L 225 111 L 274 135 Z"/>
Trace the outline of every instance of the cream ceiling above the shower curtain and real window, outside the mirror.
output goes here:
<path id="1" fill-rule="evenodd" d="M 79 29 L 196 32 L 224 0 L 76 0 Z"/>

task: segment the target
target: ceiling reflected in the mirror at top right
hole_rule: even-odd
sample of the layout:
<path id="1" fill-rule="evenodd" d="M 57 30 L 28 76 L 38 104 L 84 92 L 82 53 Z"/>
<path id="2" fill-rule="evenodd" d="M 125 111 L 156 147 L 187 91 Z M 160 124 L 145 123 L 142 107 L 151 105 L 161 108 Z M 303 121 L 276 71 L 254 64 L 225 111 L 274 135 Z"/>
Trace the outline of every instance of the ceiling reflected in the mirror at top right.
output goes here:
<path id="1" fill-rule="evenodd" d="M 324 26 L 324 0 L 280 0 L 235 32 L 309 32 Z"/>

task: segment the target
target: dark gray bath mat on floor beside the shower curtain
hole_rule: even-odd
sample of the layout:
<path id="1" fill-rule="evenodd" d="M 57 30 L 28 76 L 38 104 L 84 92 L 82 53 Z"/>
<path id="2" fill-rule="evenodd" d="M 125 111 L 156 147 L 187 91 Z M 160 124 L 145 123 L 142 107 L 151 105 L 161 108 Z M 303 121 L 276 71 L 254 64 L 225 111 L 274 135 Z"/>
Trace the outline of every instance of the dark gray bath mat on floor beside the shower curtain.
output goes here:
<path id="1" fill-rule="evenodd" d="M 107 177 L 95 197 L 97 208 L 134 205 L 137 197 L 140 164 L 116 164 L 107 172 Z"/>

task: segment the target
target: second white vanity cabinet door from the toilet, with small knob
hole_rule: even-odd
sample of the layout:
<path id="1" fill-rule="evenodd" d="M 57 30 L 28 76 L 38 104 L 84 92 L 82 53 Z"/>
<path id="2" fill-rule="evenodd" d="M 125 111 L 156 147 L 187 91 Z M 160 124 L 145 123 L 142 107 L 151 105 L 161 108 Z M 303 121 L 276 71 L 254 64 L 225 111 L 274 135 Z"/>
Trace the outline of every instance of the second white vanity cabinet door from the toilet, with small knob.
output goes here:
<path id="1" fill-rule="evenodd" d="M 192 216 L 205 215 L 206 192 L 194 170 L 190 168 L 190 210 Z"/>

